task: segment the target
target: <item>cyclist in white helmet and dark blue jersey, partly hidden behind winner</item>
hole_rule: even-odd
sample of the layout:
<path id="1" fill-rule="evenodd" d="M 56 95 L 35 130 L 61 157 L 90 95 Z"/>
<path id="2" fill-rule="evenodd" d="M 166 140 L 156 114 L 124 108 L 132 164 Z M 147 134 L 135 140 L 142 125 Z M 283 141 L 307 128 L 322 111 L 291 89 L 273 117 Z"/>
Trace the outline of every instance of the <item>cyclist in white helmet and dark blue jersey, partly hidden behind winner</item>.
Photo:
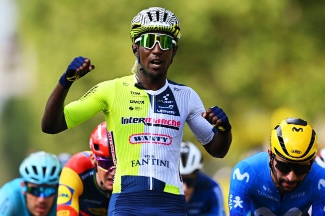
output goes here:
<path id="1" fill-rule="evenodd" d="M 181 142 L 179 172 L 188 216 L 225 216 L 222 190 L 202 168 L 201 151 L 191 142 Z"/>

